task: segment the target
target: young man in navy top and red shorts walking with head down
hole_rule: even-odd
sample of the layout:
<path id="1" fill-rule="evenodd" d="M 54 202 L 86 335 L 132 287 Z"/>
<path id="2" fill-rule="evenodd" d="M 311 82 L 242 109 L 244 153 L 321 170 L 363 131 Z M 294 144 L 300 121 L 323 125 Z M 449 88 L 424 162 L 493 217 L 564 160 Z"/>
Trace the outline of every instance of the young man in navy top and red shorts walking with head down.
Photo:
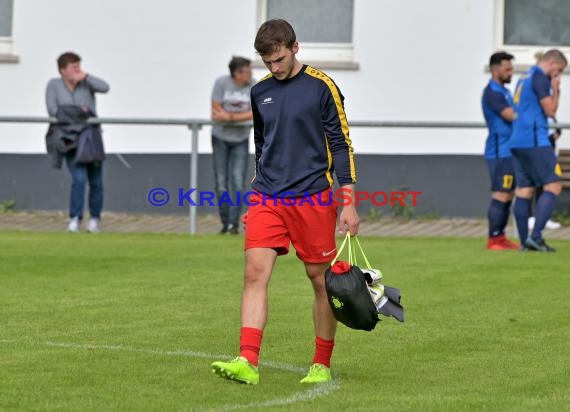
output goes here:
<path id="1" fill-rule="evenodd" d="M 245 231 L 240 356 L 214 362 L 212 370 L 226 379 L 259 382 L 257 365 L 267 321 L 269 279 L 277 256 L 287 254 L 293 243 L 315 293 L 315 355 L 301 382 L 327 382 L 332 379 L 336 332 L 324 276 L 336 254 L 333 172 L 353 198 L 342 209 L 340 230 L 356 235 L 359 225 L 344 97 L 327 75 L 297 61 L 299 44 L 285 20 L 265 22 L 257 32 L 255 49 L 270 74 L 251 90 L 255 194 L 249 200 L 252 206 Z"/>

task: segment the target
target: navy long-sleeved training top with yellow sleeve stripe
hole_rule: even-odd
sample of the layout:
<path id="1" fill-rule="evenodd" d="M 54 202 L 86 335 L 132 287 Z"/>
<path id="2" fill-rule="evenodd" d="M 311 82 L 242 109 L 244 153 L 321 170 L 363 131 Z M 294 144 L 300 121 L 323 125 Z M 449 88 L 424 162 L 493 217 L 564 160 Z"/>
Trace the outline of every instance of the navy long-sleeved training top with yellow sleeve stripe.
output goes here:
<path id="1" fill-rule="evenodd" d="M 255 141 L 252 187 L 302 197 L 356 183 L 344 97 L 323 72 L 303 66 L 287 80 L 271 74 L 251 89 Z"/>

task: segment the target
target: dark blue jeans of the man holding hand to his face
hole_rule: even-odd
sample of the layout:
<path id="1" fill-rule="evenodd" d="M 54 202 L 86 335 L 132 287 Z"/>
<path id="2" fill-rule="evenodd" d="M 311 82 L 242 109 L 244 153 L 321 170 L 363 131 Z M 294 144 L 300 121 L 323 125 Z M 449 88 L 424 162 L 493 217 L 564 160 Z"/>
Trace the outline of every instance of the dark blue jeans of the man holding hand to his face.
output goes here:
<path id="1" fill-rule="evenodd" d="M 89 182 L 89 214 L 100 219 L 103 209 L 103 163 L 76 163 L 74 157 L 75 150 L 65 155 L 72 179 L 69 217 L 83 220 L 85 183 Z"/>

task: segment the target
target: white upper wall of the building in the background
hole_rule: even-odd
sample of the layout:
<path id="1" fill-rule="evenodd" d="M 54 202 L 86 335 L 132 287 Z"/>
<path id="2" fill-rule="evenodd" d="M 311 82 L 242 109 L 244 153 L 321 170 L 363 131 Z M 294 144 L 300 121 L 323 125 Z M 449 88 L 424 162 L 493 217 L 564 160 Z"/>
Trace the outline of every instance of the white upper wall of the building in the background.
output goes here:
<path id="1" fill-rule="evenodd" d="M 207 118 L 212 84 L 227 72 L 230 57 L 255 57 L 257 10 L 257 0 L 15 0 L 20 62 L 0 63 L 0 115 L 43 116 L 55 59 L 73 50 L 88 72 L 111 84 L 98 97 L 100 116 Z M 346 97 L 349 121 L 482 121 L 494 19 L 494 0 L 356 0 L 360 69 L 327 70 Z M 255 71 L 257 78 L 264 73 Z M 559 120 L 569 115 L 563 95 Z M 181 126 L 104 129 L 109 152 L 190 148 Z M 45 130 L 0 123 L 0 153 L 43 153 Z M 359 153 L 478 154 L 485 138 L 484 130 L 456 129 L 353 128 L 351 134 Z M 211 151 L 209 128 L 201 131 L 200 151 Z"/>

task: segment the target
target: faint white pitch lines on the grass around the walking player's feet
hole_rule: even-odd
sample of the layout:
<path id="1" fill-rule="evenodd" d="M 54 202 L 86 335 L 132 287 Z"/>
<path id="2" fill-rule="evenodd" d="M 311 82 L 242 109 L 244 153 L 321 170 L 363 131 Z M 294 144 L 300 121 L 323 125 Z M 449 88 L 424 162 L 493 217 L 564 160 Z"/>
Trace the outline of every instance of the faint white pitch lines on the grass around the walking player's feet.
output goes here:
<path id="1" fill-rule="evenodd" d="M 0 339 L 0 343 L 16 343 L 14 340 Z M 134 348 L 131 346 L 123 345 L 92 345 L 92 344 L 79 344 L 79 343 L 64 343 L 64 342 L 37 342 L 32 343 L 33 345 L 40 346 L 51 346 L 56 348 L 64 349 L 95 349 L 95 350 L 110 350 L 110 351 L 124 351 L 133 353 L 146 353 L 151 355 L 159 356 L 186 356 L 190 358 L 202 358 L 202 359 L 224 359 L 230 358 L 229 355 L 215 355 L 207 352 L 196 352 L 196 351 L 163 351 L 158 349 L 143 349 Z M 272 362 L 272 361 L 262 361 L 261 365 L 267 366 L 273 369 L 279 369 L 286 372 L 293 372 L 296 374 L 304 374 L 306 368 L 299 366 L 289 365 L 287 363 Z M 267 401 L 251 402 L 248 404 L 228 404 L 213 409 L 209 409 L 210 412 L 225 412 L 225 411 L 237 411 L 240 409 L 254 409 L 254 408 L 269 408 L 273 406 L 284 406 L 291 405 L 297 402 L 306 402 L 313 399 L 326 396 L 331 392 L 340 389 L 340 382 L 330 382 L 320 385 L 313 385 L 309 390 L 303 390 L 293 393 L 288 397 L 269 399 Z"/>

